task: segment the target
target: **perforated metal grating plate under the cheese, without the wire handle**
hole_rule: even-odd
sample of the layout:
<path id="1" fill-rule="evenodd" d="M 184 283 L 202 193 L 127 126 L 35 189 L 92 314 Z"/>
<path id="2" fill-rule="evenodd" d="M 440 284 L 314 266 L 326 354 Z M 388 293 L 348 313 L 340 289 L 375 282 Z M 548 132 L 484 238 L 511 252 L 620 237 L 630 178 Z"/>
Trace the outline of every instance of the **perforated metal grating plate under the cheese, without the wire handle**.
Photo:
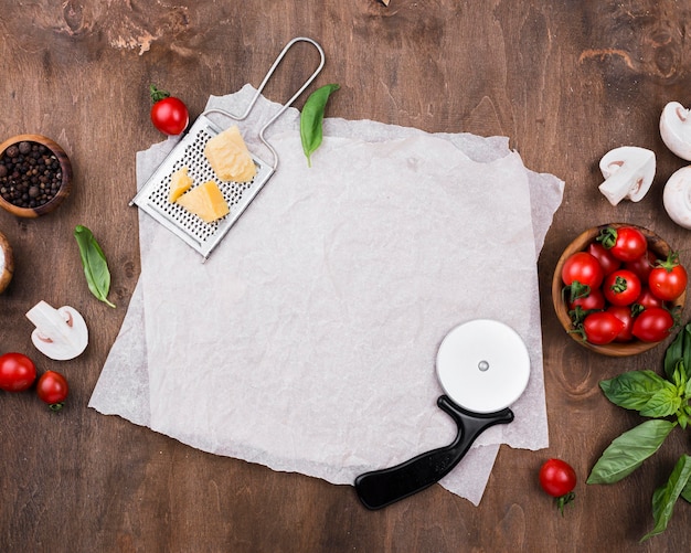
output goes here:
<path id="1" fill-rule="evenodd" d="M 220 129 L 208 117 L 200 116 L 132 200 L 132 203 L 181 237 L 204 258 L 211 254 L 274 172 L 272 166 L 252 156 L 257 167 L 252 181 L 231 182 L 219 179 L 204 156 L 206 142 L 219 132 Z M 206 223 L 178 203 L 168 201 L 171 177 L 183 167 L 188 168 L 193 187 L 210 180 L 219 185 L 230 208 L 226 216 Z"/>

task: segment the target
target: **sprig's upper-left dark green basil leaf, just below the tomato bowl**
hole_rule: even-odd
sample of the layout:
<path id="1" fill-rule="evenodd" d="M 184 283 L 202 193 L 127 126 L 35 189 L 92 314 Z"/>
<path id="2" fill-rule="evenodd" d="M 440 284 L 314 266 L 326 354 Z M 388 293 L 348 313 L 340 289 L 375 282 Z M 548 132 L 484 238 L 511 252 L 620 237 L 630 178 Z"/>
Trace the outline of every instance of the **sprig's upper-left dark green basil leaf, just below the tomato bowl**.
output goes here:
<path id="1" fill-rule="evenodd" d="M 666 390 L 671 390 L 673 395 L 677 395 L 677 389 L 671 382 L 666 381 L 662 376 L 659 376 L 652 371 L 627 372 L 612 380 L 602 381 L 599 387 L 602 387 L 607 398 L 615 405 L 638 411 L 644 416 L 667 416 L 647 413 L 666 411 L 662 408 L 662 405 L 660 405 L 660 402 L 667 397 L 665 395 L 668 393 L 665 392 Z M 662 394 L 657 395 L 660 392 L 662 392 Z M 653 402 L 653 404 L 651 408 L 648 408 L 650 402 Z M 667 414 L 674 413 L 677 408 L 679 408 L 679 406 Z"/>

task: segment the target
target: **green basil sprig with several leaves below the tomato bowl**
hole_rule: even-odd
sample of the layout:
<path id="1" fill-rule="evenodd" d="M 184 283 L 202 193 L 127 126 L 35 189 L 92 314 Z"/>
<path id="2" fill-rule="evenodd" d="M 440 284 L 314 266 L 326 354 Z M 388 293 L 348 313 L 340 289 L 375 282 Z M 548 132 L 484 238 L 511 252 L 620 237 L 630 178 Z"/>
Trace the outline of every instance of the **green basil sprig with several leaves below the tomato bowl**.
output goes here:
<path id="1" fill-rule="evenodd" d="M 677 426 L 691 422 L 691 323 L 677 334 L 665 352 L 665 375 L 630 371 L 599 383 L 607 398 L 651 421 L 615 438 L 597 460 L 587 483 L 614 483 L 634 472 L 662 446 Z M 667 417 L 676 417 L 669 421 Z M 640 540 L 662 533 L 679 497 L 691 502 L 691 456 L 683 455 L 667 483 L 652 494 L 655 528 Z"/>

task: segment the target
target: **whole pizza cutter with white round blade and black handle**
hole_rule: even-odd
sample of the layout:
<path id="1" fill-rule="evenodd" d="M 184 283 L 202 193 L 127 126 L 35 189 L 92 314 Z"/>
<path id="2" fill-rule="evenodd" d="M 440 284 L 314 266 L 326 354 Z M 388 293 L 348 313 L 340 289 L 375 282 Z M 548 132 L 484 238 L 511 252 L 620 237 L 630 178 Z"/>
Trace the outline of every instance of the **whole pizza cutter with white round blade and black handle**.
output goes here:
<path id="1" fill-rule="evenodd" d="M 401 465 L 360 475 L 355 491 L 368 509 L 381 509 L 428 488 L 448 475 L 490 426 L 513 421 L 513 404 L 530 377 L 530 355 L 511 327 L 476 319 L 454 328 L 437 351 L 436 371 L 445 394 L 440 410 L 456 423 L 448 446 Z"/>

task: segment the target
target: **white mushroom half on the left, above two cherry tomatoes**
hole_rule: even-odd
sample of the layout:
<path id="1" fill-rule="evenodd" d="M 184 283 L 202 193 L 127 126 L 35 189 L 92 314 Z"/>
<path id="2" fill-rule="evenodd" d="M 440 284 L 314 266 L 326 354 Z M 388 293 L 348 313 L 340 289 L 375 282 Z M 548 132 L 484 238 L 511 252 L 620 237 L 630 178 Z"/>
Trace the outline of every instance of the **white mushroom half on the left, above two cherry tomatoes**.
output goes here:
<path id="1" fill-rule="evenodd" d="M 31 341 L 47 358 L 56 361 L 74 359 L 88 344 L 86 322 L 73 307 L 54 309 L 42 300 L 26 312 L 26 318 L 36 327 Z"/>

